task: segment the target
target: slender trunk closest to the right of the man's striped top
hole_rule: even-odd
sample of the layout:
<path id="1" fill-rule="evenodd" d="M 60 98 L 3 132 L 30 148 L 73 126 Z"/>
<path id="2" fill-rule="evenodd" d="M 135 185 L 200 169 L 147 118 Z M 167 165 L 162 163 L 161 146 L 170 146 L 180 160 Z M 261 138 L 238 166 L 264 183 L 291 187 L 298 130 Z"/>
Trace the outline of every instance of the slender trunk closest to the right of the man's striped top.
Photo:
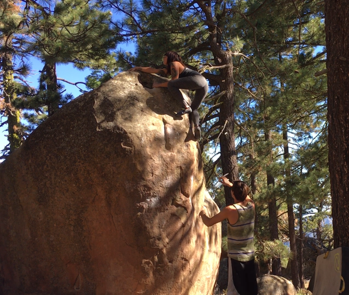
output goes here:
<path id="1" fill-rule="evenodd" d="M 271 131 L 265 130 L 265 141 L 270 142 L 271 140 Z M 272 149 L 269 148 L 269 154 L 270 157 L 272 157 Z M 275 179 L 273 175 L 270 173 L 270 170 L 266 169 L 266 181 L 267 186 L 269 185 L 274 188 L 275 186 Z M 276 199 L 274 193 L 272 193 L 269 197 L 268 202 L 268 213 L 269 213 L 269 228 L 270 228 L 270 240 L 276 240 L 279 238 L 279 230 L 278 230 L 278 214 L 277 214 L 277 207 L 276 207 Z M 281 276 L 282 269 L 281 269 L 281 259 L 279 257 L 276 257 L 272 261 L 272 274 Z"/>

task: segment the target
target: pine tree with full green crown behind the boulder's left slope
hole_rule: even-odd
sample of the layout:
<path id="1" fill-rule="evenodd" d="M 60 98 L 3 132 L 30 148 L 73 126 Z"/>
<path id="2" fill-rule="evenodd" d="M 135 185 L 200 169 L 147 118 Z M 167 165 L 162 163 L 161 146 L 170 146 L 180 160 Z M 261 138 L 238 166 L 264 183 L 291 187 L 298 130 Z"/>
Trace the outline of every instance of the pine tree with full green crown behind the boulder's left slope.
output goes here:
<path id="1" fill-rule="evenodd" d="M 57 64 L 73 63 L 78 68 L 103 66 L 111 62 L 110 50 L 117 37 L 110 30 L 111 15 L 101 12 L 93 1 L 28 1 L 30 49 L 42 60 L 38 95 L 27 102 L 31 107 L 47 106 L 51 116 L 71 97 L 63 97 Z"/>

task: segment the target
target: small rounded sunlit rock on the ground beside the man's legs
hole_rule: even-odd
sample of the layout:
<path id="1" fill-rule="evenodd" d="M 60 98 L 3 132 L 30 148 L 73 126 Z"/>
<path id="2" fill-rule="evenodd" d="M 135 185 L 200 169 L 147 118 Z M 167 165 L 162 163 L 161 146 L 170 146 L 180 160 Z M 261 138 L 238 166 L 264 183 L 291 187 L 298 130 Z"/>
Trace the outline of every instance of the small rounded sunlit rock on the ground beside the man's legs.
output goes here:
<path id="1" fill-rule="evenodd" d="M 296 295 L 292 283 L 276 275 L 265 274 L 257 278 L 259 295 Z"/>

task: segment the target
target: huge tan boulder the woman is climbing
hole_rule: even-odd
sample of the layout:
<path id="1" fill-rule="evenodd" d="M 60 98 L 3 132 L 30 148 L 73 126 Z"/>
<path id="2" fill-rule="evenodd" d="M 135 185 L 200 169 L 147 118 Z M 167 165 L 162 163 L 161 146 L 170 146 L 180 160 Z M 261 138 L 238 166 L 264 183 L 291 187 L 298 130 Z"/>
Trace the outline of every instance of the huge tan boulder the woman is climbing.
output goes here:
<path id="1" fill-rule="evenodd" d="M 221 227 L 198 213 L 218 207 L 188 116 L 142 86 L 154 79 L 120 73 L 0 164 L 0 294 L 213 293 Z"/>

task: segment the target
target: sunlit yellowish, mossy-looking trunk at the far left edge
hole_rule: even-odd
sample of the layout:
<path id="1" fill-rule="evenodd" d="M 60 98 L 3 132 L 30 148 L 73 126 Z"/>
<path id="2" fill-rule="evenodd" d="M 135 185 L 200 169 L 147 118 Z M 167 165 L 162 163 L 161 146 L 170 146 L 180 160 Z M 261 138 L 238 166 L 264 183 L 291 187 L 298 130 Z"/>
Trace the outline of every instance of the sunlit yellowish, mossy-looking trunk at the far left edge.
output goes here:
<path id="1" fill-rule="evenodd" d="M 12 69 L 12 39 L 5 37 L 5 44 L 3 46 L 4 53 L 1 59 L 1 68 L 3 71 L 3 98 L 5 102 L 5 114 L 7 116 L 8 125 L 8 141 L 10 143 L 9 153 L 19 148 L 22 143 L 20 135 L 20 111 L 13 106 L 13 101 L 16 98 L 16 91 L 14 89 L 14 77 Z"/>

